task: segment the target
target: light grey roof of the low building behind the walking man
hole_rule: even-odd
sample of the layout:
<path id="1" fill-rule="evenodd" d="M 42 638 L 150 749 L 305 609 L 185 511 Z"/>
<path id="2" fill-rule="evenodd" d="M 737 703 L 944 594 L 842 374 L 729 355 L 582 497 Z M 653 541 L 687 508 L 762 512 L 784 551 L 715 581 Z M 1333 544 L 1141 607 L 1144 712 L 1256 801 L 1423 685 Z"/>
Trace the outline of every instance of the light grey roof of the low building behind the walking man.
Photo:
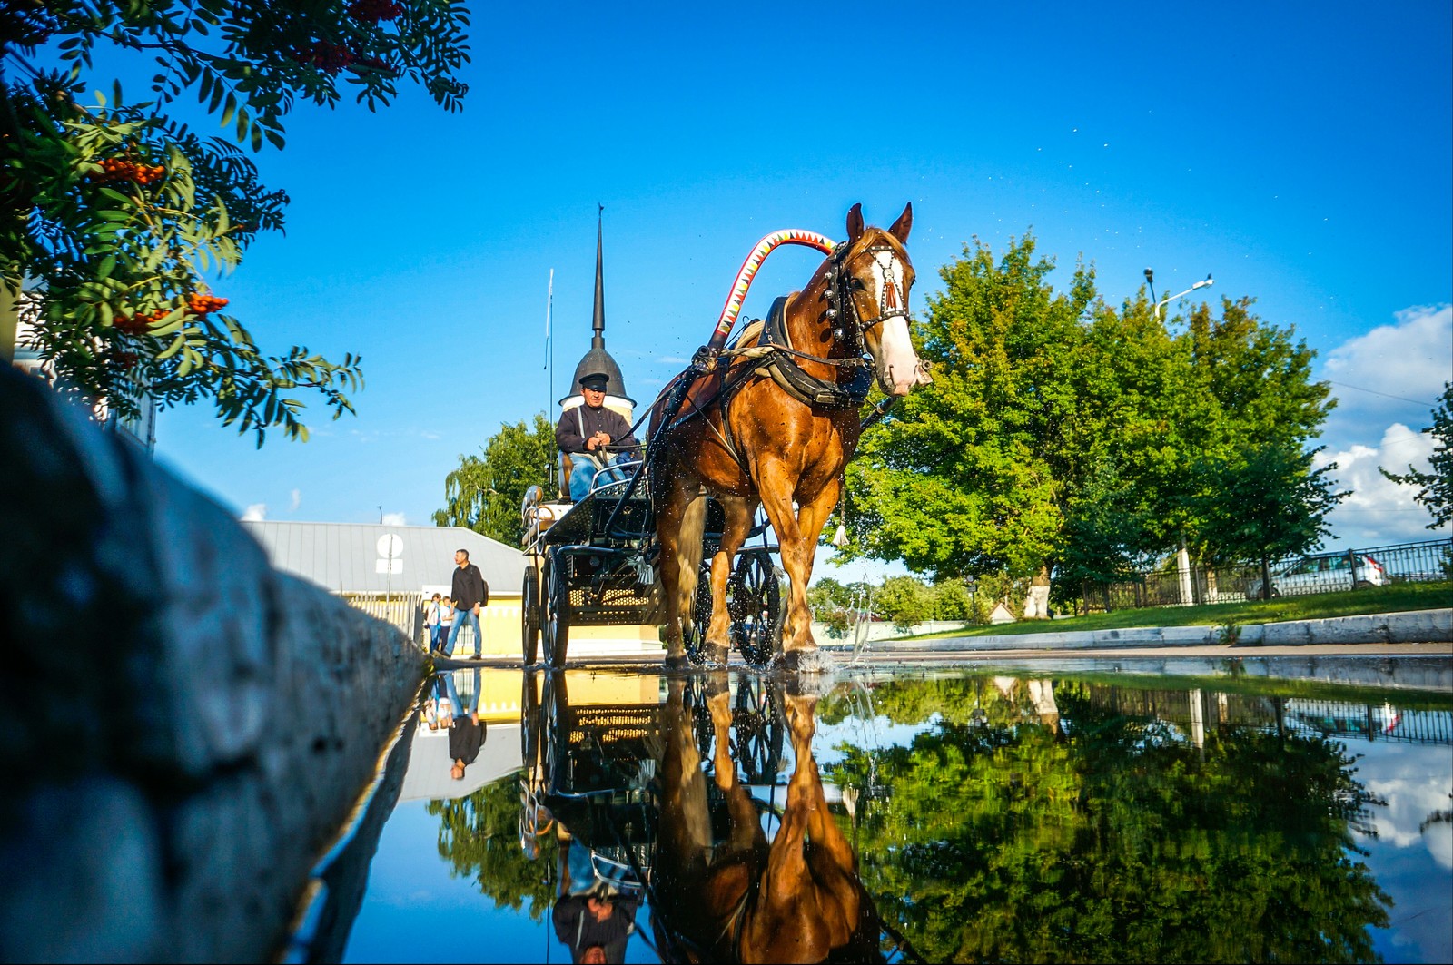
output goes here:
<path id="1" fill-rule="evenodd" d="M 519 549 L 461 526 L 273 520 L 243 520 L 243 526 L 276 568 L 334 593 L 448 587 L 453 581 L 455 549 L 469 552 L 491 594 L 519 596 L 525 578 L 525 555 Z"/>

